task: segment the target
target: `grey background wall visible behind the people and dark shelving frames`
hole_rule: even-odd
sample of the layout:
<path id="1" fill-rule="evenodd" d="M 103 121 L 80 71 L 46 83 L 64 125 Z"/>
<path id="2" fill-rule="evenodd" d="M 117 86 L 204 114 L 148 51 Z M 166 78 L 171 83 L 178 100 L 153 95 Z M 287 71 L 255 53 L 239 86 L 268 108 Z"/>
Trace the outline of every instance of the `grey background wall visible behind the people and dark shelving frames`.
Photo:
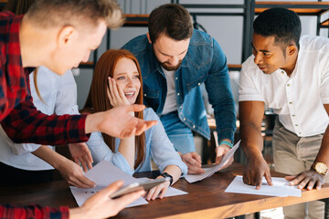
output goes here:
<path id="1" fill-rule="evenodd" d="M 170 3 L 170 0 L 117 0 L 125 14 L 150 14 L 154 7 Z M 278 1 L 278 0 L 277 0 Z M 281 0 L 282 1 L 282 0 Z M 296 0 L 291 0 L 296 1 Z M 304 0 L 305 1 L 305 0 Z M 327 1 L 327 0 L 323 0 Z M 243 0 L 181 0 L 181 4 L 243 4 Z M 228 12 L 228 9 L 189 9 L 190 12 Z M 242 9 L 230 9 L 229 12 L 242 12 Z M 329 17 L 324 15 L 323 18 Z M 302 35 L 316 35 L 316 16 L 301 16 Z M 204 26 L 213 36 L 228 57 L 228 64 L 241 64 L 242 16 L 197 16 L 197 23 Z M 122 27 L 111 31 L 111 48 L 120 48 L 134 36 L 143 35 L 147 27 Z M 321 29 L 320 36 L 327 37 L 328 29 Z M 106 50 L 106 37 L 98 49 L 98 57 Z M 90 57 L 92 60 L 92 56 Z M 91 69 L 76 69 L 75 79 L 78 85 L 78 105 L 83 107 L 87 98 L 92 78 Z M 239 72 L 230 72 L 232 91 L 237 99 Z"/>

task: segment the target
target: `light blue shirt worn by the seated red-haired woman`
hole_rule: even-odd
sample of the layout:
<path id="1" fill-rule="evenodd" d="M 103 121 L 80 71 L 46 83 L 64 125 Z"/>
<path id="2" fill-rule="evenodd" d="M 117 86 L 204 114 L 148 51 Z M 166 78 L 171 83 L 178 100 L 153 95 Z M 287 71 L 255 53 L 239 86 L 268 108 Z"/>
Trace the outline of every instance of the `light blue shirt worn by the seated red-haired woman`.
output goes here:
<path id="1" fill-rule="evenodd" d="M 182 176 L 187 173 L 187 166 L 182 162 L 179 154 L 175 151 L 173 144 L 169 141 L 164 131 L 159 117 L 152 109 L 143 110 L 144 120 L 157 120 L 157 124 L 149 130 L 145 131 L 145 160 L 143 165 L 139 166 L 136 170 L 132 170 L 129 163 L 125 160 L 123 155 L 118 151 L 120 139 L 115 139 L 115 152 L 112 152 L 107 144 L 103 141 L 100 132 L 91 133 L 90 140 L 87 145 L 90 149 L 93 164 L 101 161 L 112 162 L 115 166 L 120 168 L 123 172 L 133 175 L 133 172 L 148 172 L 151 171 L 151 158 L 154 160 L 160 172 L 169 165 L 176 165 L 182 171 Z"/>

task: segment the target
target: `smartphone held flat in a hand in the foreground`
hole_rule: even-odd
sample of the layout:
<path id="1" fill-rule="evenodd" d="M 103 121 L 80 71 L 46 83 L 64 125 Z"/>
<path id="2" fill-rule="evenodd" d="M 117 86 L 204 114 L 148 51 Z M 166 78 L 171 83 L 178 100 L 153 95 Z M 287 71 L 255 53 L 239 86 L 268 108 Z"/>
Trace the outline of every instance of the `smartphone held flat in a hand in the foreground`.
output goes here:
<path id="1" fill-rule="evenodd" d="M 161 178 L 161 179 L 156 179 L 156 180 L 149 180 L 149 181 L 144 181 L 144 182 L 137 182 L 137 183 L 131 183 L 129 185 L 123 186 L 120 188 L 118 191 L 115 193 L 112 193 L 110 195 L 110 198 L 118 198 L 124 194 L 127 193 L 133 193 L 138 190 L 144 190 L 144 191 L 149 191 L 152 189 L 154 186 L 157 186 L 161 183 L 164 183 L 166 181 L 169 181 L 169 177 Z"/>

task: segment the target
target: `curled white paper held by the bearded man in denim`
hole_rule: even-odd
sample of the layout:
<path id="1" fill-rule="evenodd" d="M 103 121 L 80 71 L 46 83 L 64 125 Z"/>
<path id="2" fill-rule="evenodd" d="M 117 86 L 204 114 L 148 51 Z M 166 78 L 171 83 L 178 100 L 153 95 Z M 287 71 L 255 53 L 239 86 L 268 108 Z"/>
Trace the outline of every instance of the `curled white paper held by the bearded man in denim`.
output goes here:
<path id="1" fill-rule="evenodd" d="M 195 183 L 197 181 L 201 181 L 201 180 L 211 176 L 215 172 L 218 172 L 218 170 L 224 165 L 224 163 L 227 162 L 231 156 L 233 156 L 235 151 L 237 151 L 237 149 L 239 148 L 239 142 L 236 143 L 236 145 L 234 145 L 234 147 L 231 148 L 226 154 L 224 154 L 224 157 L 219 164 L 214 165 L 211 168 L 203 168 L 205 170 L 205 172 L 201 173 L 201 174 L 187 174 L 185 177 L 186 181 L 188 183 Z"/>

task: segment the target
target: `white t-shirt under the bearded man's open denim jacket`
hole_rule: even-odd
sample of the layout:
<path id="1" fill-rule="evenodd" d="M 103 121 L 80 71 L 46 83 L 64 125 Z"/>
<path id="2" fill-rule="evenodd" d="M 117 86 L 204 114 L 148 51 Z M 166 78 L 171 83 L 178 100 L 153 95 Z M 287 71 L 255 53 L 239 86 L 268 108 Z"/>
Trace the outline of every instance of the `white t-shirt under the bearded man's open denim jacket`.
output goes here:
<path id="1" fill-rule="evenodd" d="M 175 99 L 175 70 L 167 71 L 163 68 L 164 75 L 167 81 L 167 95 L 164 101 L 163 115 L 177 110 L 177 104 Z"/>

